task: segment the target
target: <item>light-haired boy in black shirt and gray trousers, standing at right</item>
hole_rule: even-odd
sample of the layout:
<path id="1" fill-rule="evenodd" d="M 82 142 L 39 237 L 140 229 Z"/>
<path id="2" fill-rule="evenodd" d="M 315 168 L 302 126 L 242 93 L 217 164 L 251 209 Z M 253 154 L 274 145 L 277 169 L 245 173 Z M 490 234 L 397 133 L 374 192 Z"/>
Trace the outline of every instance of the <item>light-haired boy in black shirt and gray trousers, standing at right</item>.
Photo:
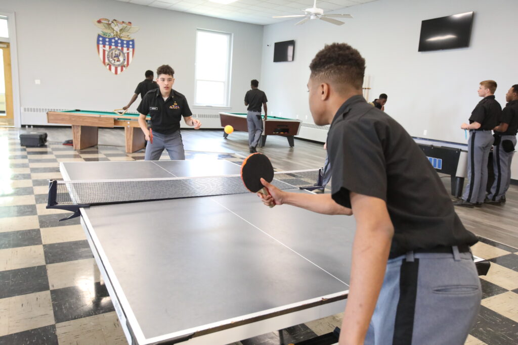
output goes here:
<path id="1" fill-rule="evenodd" d="M 469 129 L 468 140 L 468 184 L 462 199 L 454 202 L 458 206 L 482 206 L 487 185 L 487 159 L 494 138 L 491 130 L 498 125 L 502 108 L 495 99 L 496 82 L 480 82 L 479 96 L 484 97 L 469 117 L 469 125 L 463 123 L 462 129 Z"/>

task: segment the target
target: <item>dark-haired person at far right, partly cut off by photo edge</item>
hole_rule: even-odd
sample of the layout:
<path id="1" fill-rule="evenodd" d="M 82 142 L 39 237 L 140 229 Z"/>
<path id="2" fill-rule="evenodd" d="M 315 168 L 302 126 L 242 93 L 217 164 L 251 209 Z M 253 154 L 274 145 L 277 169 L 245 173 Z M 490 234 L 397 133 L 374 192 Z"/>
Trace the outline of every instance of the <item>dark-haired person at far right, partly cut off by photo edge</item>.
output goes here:
<path id="1" fill-rule="evenodd" d="M 511 183 L 511 160 L 516 146 L 518 131 L 518 84 L 513 85 L 506 94 L 506 107 L 500 116 L 500 124 L 495 131 L 493 146 L 493 171 L 495 182 L 491 192 L 484 200 L 488 204 L 500 204 L 506 200 L 506 192 Z"/>

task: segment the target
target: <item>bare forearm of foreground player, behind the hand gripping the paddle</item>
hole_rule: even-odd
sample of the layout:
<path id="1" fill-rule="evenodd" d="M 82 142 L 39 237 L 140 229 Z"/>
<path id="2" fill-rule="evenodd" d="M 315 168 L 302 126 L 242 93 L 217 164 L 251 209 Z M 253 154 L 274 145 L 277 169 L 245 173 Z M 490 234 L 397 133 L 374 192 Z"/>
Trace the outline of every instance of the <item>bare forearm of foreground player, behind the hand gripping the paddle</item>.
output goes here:
<path id="1" fill-rule="evenodd" d="M 285 192 L 283 204 L 293 205 L 324 215 L 352 215 L 352 210 L 337 204 L 331 194 Z"/>

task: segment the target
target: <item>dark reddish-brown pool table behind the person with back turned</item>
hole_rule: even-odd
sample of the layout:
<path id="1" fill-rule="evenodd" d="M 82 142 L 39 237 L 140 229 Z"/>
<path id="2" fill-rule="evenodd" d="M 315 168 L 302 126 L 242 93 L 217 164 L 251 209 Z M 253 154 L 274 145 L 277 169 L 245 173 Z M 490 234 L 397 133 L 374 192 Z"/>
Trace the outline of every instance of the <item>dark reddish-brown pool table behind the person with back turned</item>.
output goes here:
<path id="1" fill-rule="evenodd" d="M 221 127 L 231 125 L 234 130 L 248 132 L 247 114 L 246 113 L 220 113 Z M 293 140 L 300 129 L 301 121 L 293 118 L 284 118 L 278 116 L 268 116 L 266 121 L 263 119 L 263 134 L 259 145 L 263 147 L 266 143 L 267 136 L 286 137 L 291 147 L 295 146 Z M 228 134 L 223 132 L 223 138 L 227 138 Z"/>

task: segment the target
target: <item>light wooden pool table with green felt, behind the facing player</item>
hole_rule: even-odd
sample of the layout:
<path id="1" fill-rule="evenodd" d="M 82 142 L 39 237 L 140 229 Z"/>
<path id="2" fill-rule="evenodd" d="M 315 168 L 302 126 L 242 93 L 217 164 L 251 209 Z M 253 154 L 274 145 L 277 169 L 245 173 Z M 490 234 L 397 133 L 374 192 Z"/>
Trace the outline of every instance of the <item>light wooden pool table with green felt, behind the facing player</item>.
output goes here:
<path id="1" fill-rule="evenodd" d="M 146 146 L 144 133 L 138 125 L 139 114 L 116 114 L 111 111 L 67 110 L 47 112 L 49 124 L 72 126 L 74 149 L 83 149 L 97 145 L 99 127 L 124 127 L 126 153 L 133 153 Z M 146 119 L 150 119 L 148 116 Z"/>

